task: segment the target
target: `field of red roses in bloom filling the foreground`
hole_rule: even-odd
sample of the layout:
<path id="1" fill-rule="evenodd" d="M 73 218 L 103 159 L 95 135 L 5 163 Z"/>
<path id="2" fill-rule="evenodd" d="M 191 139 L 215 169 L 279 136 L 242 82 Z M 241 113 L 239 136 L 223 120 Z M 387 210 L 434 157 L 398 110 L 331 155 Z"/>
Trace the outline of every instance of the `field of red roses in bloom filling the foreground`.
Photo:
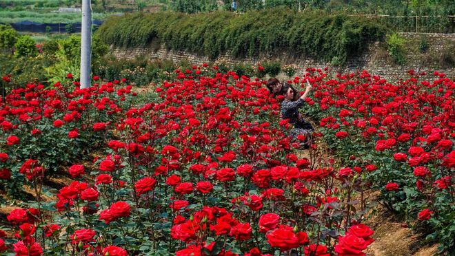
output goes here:
<path id="1" fill-rule="evenodd" d="M 445 74 L 391 83 L 308 69 L 288 81 L 314 87 L 305 151 L 265 81 L 205 64 L 174 74 L 146 103 L 127 81 L 97 77 L 90 89 L 68 76 L 6 94 L 0 253 L 365 255 L 375 191 L 441 253 L 454 248 L 455 83 Z M 62 173 L 70 182 L 52 188 Z"/>

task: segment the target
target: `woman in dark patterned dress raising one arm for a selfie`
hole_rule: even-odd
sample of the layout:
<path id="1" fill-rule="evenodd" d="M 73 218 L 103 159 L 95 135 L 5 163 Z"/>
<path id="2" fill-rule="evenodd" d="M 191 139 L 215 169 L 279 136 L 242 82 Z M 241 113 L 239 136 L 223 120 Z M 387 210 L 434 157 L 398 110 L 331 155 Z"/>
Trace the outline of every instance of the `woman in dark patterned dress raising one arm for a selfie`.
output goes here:
<path id="1" fill-rule="evenodd" d="M 299 113 L 299 108 L 305 104 L 305 98 L 310 94 L 312 88 L 312 85 L 307 80 L 305 92 L 300 97 L 292 85 L 284 85 L 281 89 L 281 92 L 285 96 L 283 103 L 281 103 L 281 116 L 283 119 L 288 119 L 289 123 L 294 125 L 290 134 L 292 140 L 298 140 L 299 135 L 305 136 L 305 140 L 301 143 L 303 149 L 308 149 L 311 146 L 314 128 L 310 122 L 303 119 Z"/>

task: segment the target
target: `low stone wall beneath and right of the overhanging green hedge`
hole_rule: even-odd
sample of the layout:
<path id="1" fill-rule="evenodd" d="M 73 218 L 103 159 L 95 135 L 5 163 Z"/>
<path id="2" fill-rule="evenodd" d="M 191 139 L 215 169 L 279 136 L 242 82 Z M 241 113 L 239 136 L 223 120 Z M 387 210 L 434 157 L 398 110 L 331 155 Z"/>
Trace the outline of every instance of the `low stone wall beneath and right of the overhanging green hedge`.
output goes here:
<path id="1" fill-rule="evenodd" d="M 441 62 L 444 54 L 447 55 L 451 50 L 455 50 L 455 34 L 429 34 L 429 33 L 401 33 L 406 39 L 405 56 L 407 63 L 403 66 L 393 63 L 385 47 L 380 43 L 373 43 L 369 49 L 361 56 L 356 56 L 345 63 L 342 67 L 334 67 L 341 72 L 368 70 L 371 74 L 378 74 L 385 78 L 393 79 L 403 77 L 407 70 L 419 70 L 432 72 L 439 70 L 445 72 L 450 77 L 455 77 L 455 67 Z M 426 52 L 421 53 L 418 50 L 418 45 L 425 38 L 428 43 Z M 209 63 L 210 59 L 207 56 L 199 56 L 185 51 L 166 50 L 161 46 L 158 50 L 153 50 L 152 47 L 136 47 L 129 49 L 112 49 L 114 56 L 117 58 L 135 58 L 136 56 L 145 55 L 154 59 L 170 59 L 174 62 L 188 60 L 190 63 L 200 65 L 201 63 Z M 452 52 L 452 56 L 454 53 Z M 229 54 L 219 56 L 214 63 L 258 63 L 265 60 L 264 57 L 256 58 L 233 58 Z M 267 58 L 273 61 L 280 61 L 283 65 L 295 64 L 299 67 L 296 74 L 301 74 L 307 67 L 327 67 L 330 63 L 322 63 L 314 61 L 311 58 L 298 58 L 291 54 L 282 54 L 280 57 Z"/>

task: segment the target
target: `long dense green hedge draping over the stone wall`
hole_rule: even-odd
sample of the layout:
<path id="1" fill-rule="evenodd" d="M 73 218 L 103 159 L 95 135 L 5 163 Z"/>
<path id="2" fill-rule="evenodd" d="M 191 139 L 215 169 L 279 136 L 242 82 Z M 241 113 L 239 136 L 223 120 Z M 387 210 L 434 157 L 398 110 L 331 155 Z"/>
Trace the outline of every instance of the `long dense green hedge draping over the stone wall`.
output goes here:
<path id="1" fill-rule="evenodd" d="M 343 14 L 273 8 L 244 14 L 134 13 L 110 17 L 97 33 L 105 43 L 117 47 L 164 43 L 170 50 L 187 50 L 212 59 L 223 52 L 237 58 L 292 52 L 344 63 L 368 43 L 383 41 L 387 28 Z"/>

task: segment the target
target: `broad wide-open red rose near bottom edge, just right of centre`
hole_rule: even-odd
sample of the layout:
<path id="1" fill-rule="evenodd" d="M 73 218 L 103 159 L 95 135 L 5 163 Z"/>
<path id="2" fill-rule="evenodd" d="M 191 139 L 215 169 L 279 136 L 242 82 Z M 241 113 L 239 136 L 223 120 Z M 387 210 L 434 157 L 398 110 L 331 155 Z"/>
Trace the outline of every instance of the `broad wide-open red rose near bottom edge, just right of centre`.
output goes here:
<path id="1" fill-rule="evenodd" d="M 267 242 L 270 246 L 280 248 L 282 251 L 297 248 L 309 241 L 307 233 L 294 233 L 292 227 L 285 225 L 281 225 L 274 231 L 267 233 L 265 237 L 267 237 Z"/>

